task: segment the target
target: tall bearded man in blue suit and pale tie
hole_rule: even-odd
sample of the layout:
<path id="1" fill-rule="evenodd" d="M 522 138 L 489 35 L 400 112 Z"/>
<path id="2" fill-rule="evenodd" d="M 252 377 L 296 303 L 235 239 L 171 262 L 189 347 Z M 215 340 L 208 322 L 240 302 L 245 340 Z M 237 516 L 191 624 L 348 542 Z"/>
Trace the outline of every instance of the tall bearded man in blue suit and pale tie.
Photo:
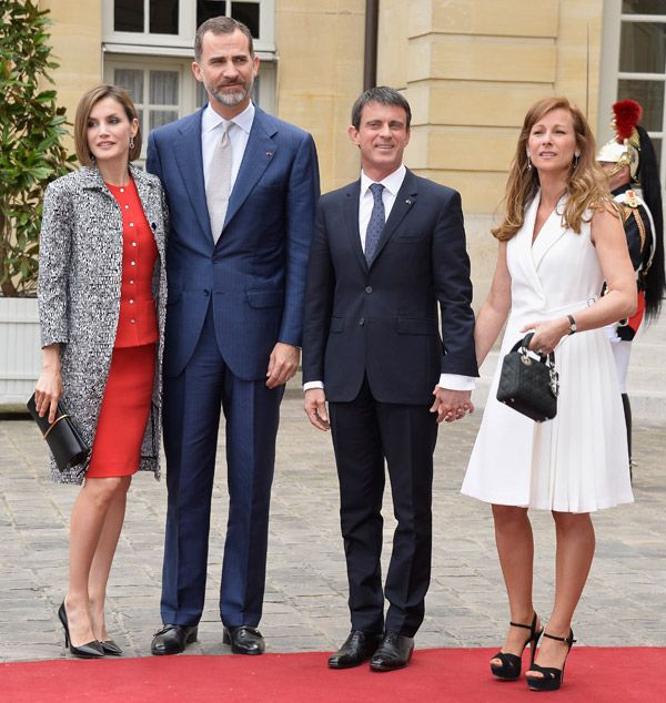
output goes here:
<path id="1" fill-rule="evenodd" d="M 312 137 L 251 101 L 249 29 L 213 18 L 196 32 L 194 75 L 209 103 L 151 133 L 148 171 L 171 215 L 167 269 L 164 449 L 169 491 L 153 654 L 196 640 L 204 604 L 220 411 L 229 521 L 220 614 L 234 653 L 261 654 L 275 437 L 296 373 L 314 211 Z"/>

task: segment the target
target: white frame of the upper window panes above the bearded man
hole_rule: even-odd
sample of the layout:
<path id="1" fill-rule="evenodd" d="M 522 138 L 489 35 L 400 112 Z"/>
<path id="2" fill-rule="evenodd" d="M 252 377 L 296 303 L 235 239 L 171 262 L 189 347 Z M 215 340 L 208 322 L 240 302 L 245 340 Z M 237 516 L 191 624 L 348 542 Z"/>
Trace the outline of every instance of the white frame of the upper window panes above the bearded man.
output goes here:
<path id="1" fill-rule="evenodd" d="M 233 0 L 231 0 L 233 1 Z M 275 60 L 275 0 L 245 0 L 261 6 L 259 38 L 254 52 L 264 61 Z M 144 2 L 144 22 L 148 27 L 150 0 Z M 228 6 L 229 11 L 230 6 Z M 110 53 L 140 53 L 143 55 L 192 57 L 196 33 L 196 0 L 179 0 L 179 33 L 117 32 L 113 30 L 113 0 L 103 0 L 102 42 Z"/>

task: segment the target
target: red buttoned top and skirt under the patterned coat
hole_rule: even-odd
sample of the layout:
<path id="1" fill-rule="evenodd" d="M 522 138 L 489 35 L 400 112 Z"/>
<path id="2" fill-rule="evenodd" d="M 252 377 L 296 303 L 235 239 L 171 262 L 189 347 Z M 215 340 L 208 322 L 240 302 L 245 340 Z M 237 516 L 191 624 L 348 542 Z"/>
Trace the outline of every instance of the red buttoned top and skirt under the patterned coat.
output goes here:
<path id="1" fill-rule="evenodd" d="M 120 316 L 87 478 L 131 476 L 152 401 L 159 338 L 152 279 L 158 247 L 133 181 L 107 187 L 122 213 Z"/>

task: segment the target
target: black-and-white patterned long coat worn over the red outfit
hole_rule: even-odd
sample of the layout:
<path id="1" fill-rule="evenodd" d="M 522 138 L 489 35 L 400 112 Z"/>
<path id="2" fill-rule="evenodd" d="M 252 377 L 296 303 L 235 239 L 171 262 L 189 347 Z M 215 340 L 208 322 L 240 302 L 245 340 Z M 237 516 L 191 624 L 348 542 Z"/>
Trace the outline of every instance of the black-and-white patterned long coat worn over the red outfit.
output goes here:
<path id="1" fill-rule="evenodd" d="M 167 312 L 168 211 L 160 181 L 130 164 L 145 218 L 158 246 L 153 296 L 160 342 L 151 412 L 140 470 L 160 477 L 161 378 Z M 95 169 L 83 167 L 49 184 L 44 193 L 39 257 L 39 317 L 42 346 L 61 345 L 62 403 L 92 446 L 120 315 L 122 216 Z M 81 483 L 85 463 L 60 472 L 59 483 Z"/>

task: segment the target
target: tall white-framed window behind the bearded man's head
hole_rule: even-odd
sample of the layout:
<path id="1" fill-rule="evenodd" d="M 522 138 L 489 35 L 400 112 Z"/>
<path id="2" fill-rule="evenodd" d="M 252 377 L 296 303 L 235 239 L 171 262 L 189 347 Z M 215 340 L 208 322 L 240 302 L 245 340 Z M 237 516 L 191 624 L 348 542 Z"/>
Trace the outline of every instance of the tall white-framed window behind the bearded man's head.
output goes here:
<path id="1" fill-rule="evenodd" d="M 191 63 L 196 28 L 211 17 L 248 26 L 261 59 L 253 100 L 274 111 L 274 0 L 103 0 L 102 7 L 104 80 L 122 85 L 137 104 L 144 150 L 151 130 L 205 102 Z"/>

